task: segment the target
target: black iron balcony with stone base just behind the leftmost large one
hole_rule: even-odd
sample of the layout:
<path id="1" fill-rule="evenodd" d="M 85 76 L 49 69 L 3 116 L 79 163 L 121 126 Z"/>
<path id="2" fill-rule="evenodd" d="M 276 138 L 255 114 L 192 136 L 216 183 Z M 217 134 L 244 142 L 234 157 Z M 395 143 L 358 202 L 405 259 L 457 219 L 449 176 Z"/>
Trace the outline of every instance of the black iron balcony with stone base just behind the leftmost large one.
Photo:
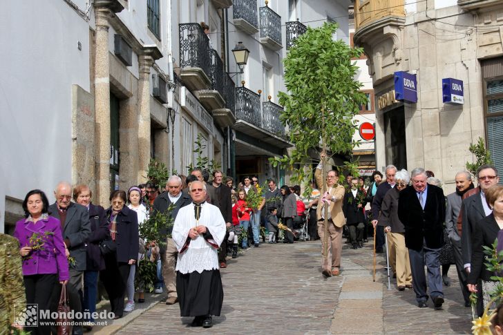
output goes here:
<path id="1" fill-rule="evenodd" d="M 209 66 L 209 90 L 195 90 L 193 93 L 208 111 L 222 108 L 225 105 L 224 95 L 224 64 L 216 50 L 209 50 L 211 64 Z"/>

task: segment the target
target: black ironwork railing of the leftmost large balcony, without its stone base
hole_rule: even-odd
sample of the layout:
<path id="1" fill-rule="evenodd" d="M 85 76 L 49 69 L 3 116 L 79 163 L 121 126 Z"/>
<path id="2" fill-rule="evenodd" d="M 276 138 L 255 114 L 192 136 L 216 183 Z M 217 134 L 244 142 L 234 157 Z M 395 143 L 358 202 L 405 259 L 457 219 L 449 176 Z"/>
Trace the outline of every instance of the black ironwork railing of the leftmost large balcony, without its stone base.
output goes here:
<path id="1" fill-rule="evenodd" d="M 210 77 L 209 38 L 199 23 L 180 23 L 180 67 L 202 68 Z"/>

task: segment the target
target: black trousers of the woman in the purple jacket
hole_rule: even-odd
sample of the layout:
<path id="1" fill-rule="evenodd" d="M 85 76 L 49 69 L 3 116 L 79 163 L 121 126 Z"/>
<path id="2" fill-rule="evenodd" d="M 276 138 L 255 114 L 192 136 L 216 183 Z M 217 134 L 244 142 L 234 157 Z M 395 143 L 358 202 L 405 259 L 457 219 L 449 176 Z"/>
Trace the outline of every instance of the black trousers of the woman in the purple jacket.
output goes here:
<path id="1" fill-rule="evenodd" d="M 39 311 L 41 309 L 50 309 L 53 307 L 51 304 L 51 296 L 53 295 L 53 291 L 57 283 L 57 274 L 34 274 L 32 276 L 23 276 L 23 281 L 27 304 L 38 304 Z M 26 327 L 25 330 L 28 330 L 31 334 L 50 334 L 50 325 L 41 325 L 40 322 L 50 320 L 38 321 L 39 327 Z"/>

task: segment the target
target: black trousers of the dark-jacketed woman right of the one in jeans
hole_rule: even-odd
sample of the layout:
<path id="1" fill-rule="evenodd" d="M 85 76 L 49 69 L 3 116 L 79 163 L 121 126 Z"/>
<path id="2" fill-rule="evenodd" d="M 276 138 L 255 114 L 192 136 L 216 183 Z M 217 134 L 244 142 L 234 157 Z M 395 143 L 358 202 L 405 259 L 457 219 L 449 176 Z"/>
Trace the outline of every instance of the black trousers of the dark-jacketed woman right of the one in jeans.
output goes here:
<path id="1" fill-rule="evenodd" d="M 124 314 L 124 295 L 131 265 L 126 262 L 117 262 L 115 253 L 105 256 L 105 269 L 99 271 L 103 285 L 110 299 L 110 306 L 115 316 Z"/>

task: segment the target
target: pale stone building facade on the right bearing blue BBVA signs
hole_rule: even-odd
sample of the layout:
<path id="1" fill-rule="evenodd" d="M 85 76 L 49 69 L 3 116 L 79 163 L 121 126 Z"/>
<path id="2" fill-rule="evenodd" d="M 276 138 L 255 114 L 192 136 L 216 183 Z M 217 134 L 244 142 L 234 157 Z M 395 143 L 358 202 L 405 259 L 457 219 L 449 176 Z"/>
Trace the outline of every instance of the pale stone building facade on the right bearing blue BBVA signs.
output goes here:
<path id="1" fill-rule="evenodd" d="M 367 0 L 354 10 L 354 41 L 368 55 L 374 85 L 377 168 L 424 166 L 450 192 L 474 158 L 468 146 L 482 137 L 503 169 L 503 3 Z M 395 99 L 397 71 L 416 76 L 417 103 Z M 446 78 L 463 81 L 464 104 L 444 104 Z"/>

